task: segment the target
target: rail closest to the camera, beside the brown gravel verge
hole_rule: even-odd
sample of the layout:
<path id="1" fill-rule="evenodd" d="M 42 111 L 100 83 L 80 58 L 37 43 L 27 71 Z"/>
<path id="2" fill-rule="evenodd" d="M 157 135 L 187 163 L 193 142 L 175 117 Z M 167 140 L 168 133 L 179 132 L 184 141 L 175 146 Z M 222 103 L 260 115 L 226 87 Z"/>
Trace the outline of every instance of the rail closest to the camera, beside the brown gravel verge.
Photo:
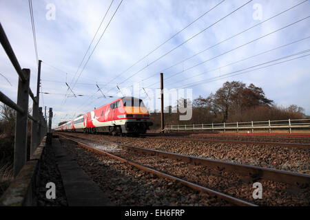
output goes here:
<path id="1" fill-rule="evenodd" d="M 217 192 L 216 190 L 212 190 L 210 188 L 206 188 L 206 187 L 200 186 L 198 184 L 194 184 L 194 183 L 192 183 L 190 181 L 186 181 L 184 179 L 180 179 L 178 177 L 174 177 L 174 176 L 169 175 L 167 173 L 163 173 L 163 172 L 155 170 L 153 168 L 149 168 L 147 166 L 143 166 L 141 164 L 132 162 L 132 161 L 130 161 L 128 159 L 125 159 L 123 157 L 118 157 L 118 156 L 116 156 L 116 155 L 114 155 L 112 153 L 107 153 L 106 151 L 103 151 L 101 149 L 93 148 L 92 146 L 89 146 L 87 144 L 81 143 L 81 142 L 79 142 L 77 140 L 74 140 L 74 139 L 72 139 L 70 137 L 66 137 L 63 134 L 61 134 L 61 137 L 66 138 L 68 140 L 71 140 L 73 142 L 76 142 L 76 144 L 79 144 L 79 146 L 87 148 L 90 151 L 94 151 L 95 153 L 99 153 L 99 154 L 102 154 L 102 155 L 107 155 L 107 156 L 112 157 L 114 159 L 118 159 L 119 161 L 125 162 L 127 164 L 132 165 L 132 166 L 135 166 L 136 168 L 138 168 L 140 170 L 144 170 L 146 172 L 153 173 L 153 174 L 157 175 L 158 177 L 163 177 L 163 178 L 167 178 L 167 179 L 172 179 L 174 181 L 179 181 L 181 184 L 189 186 L 190 188 L 193 188 L 194 190 L 199 190 L 201 192 L 207 192 L 209 195 L 215 195 L 215 196 L 219 197 L 220 199 L 224 199 L 225 201 L 229 201 L 230 203 L 234 203 L 237 206 L 257 206 L 254 203 L 249 203 L 248 201 L 244 201 L 242 199 L 231 197 L 231 196 L 226 195 L 226 194 L 224 194 L 222 192 Z"/>

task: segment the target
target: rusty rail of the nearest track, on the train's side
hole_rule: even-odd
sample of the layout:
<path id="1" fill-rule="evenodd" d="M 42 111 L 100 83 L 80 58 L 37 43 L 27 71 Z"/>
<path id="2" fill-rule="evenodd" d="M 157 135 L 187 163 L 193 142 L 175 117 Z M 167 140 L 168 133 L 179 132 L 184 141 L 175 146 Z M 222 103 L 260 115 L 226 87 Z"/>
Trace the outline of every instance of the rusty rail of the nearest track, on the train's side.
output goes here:
<path id="1" fill-rule="evenodd" d="M 61 134 L 63 135 L 63 134 Z M 68 135 L 68 134 L 65 134 Z M 68 135 L 71 137 L 76 137 L 74 135 Z M 286 170 L 277 170 L 273 168 L 265 168 L 261 166 L 252 166 L 252 165 L 246 165 L 246 164 L 238 164 L 238 163 L 232 163 L 232 162 L 225 162 L 218 159 L 207 159 L 203 157 L 195 157 L 191 155 L 181 155 L 177 153 L 169 153 L 165 151 L 158 151 L 158 150 L 152 150 L 148 148 L 141 148 L 138 146 L 131 146 L 128 144 L 121 144 L 117 142 L 110 142 L 106 140 L 93 140 L 87 137 L 78 137 L 85 140 L 90 140 L 92 142 L 107 142 L 110 144 L 116 144 L 118 146 L 124 146 L 126 148 L 134 149 L 135 151 L 141 152 L 141 153 L 148 153 L 152 155 L 161 155 L 163 157 L 169 157 L 171 159 L 178 159 L 185 161 L 189 164 L 194 165 L 203 165 L 208 166 L 211 168 L 217 168 L 219 170 L 230 170 L 233 172 L 238 172 L 243 175 L 247 175 L 251 177 L 252 179 L 268 179 L 271 181 L 278 181 L 282 183 L 292 184 L 296 185 L 298 187 L 300 186 L 310 186 L 310 175 L 303 174 L 303 173 L 293 173 Z"/>

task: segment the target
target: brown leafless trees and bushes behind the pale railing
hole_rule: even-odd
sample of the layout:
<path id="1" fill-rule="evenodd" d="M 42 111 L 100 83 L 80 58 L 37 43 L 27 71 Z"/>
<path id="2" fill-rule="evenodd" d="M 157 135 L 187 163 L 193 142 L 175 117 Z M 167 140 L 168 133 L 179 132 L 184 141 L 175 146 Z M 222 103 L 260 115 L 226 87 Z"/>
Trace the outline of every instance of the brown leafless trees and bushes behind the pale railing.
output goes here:
<path id="1" fill-rule="evenodd" d="M 191 120 L 180 121 L 180 113 L 176 111 L 179 104 L 192 104 Z M 286 120 L 306 118 L 304 109 L 296 104 L 289 107 L 278 107 L 275 102 L 265 96 L 261 87 L 253 83 L 246 85 L 240 81 L 226 82 L 214 94 L 199 96 L 192 100 L 178 100 L 175 106 L 166 108 L 165 124 L 209 124 L 211 122 L 249 122 L 264 120 Z M 151 129 L 161 127 L 161 113 L 150 113 L 154 123 Z"/>

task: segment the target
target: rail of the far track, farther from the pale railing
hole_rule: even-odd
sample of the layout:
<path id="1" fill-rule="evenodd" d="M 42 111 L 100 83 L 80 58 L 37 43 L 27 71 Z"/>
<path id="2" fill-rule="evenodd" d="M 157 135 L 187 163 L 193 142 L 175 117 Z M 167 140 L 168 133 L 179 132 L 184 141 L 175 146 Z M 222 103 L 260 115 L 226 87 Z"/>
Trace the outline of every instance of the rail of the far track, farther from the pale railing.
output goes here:
<path id="1" fill-rule="evenodd" d="M 282 142 L 254 142 L 243 140 L 212 140 L 203 138 L 187 138 L 187 137 L 147 137 L 149 139 L 163 139 L 163 140 L 182 140 L 182 141 L 200 141 L 200 142 L 213 142 L 213 143 L 228 143 L 228 144 L 269 144 L 273 146 L 289 146 L 298 148 L 310 148 L 310 144 L 301 143 L 282 143 Z"/>

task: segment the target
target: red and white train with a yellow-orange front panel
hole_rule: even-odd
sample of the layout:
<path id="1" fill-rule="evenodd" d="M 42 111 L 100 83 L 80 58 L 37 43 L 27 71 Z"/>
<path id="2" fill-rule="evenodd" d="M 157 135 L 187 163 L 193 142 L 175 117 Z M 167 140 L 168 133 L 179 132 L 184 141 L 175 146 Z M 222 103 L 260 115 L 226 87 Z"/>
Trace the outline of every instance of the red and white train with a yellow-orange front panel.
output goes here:
<path id="1" fill-rule="evenodd" d="M 125 96 L 61 124 L 54 131 L 139 135 L 152 125 L 143 100 Z"/>

